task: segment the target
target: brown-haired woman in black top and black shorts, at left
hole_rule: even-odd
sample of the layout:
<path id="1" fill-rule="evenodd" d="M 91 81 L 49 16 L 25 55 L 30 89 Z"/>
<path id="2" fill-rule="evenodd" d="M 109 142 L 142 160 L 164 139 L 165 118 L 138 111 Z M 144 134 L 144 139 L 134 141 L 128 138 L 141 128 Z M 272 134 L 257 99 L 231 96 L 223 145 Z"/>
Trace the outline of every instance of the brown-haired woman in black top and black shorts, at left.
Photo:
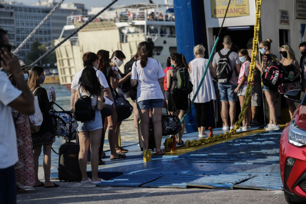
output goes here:
<path id="1" fill-rule="evenodd" d="M 35 184 L 33 187 L 53 188 L 59 185 L 50 181 L 50 168 L 51 168 L 51 148 L 52 143 L 55 142 L 55 132 L 52 117 L 49 111 L 52 108 L 52 102 L 56 100 L 55 92 L 52 94 L 52 102 L 49 102 L 47 91 L 41 87 L 45 80 L 44 70 L 41 66 L 32 67 L 28 84 L 30 90 L 35 96 L 38 97 L 39 108 L 43 115 L 43 121 L 38 133 L 32 133 L 33 155 L 34 155 L 34 170 L 35 170 Z M 41 147 L 43 146 L 43 169 L 45 183 L 38 179 L 38 159 L 41 154 Z"/>

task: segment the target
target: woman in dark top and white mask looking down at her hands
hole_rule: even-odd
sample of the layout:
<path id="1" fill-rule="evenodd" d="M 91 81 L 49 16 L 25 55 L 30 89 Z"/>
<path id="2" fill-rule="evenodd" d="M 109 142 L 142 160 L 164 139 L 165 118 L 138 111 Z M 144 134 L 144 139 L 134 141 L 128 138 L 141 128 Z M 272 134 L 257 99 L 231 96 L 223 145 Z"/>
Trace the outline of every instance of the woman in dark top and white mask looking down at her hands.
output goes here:
<path id="1" fill-rule="evenodd" d="M 122 51 L 115 50 L 115 52 L 111 56 L 111 63 L 109 67 L 107 68 L 106 78 L 109 82 L 109 85 L 112 91 L 115 107 L 117 107 L 118 104 L 117 104 L 116 93 L 114 90 L 116 90 L 119 94 L 120 93 L 123 94 L 123 96 L 126 98 L 126 94 L 121 90 L 121 85 L 126 80 L 130 79 L 131 74 L 132 74 L 130 72 L 123 77 L 122 72 L 119 70 L 119 67 L 123 64 L 124 59 L 125 59 L 125 55 L 122 53 Z M 116 149 L 116 153 L 119 155 L 118 158 L 114 158 L 114 159 L 122 159 L 122 158 L 125 158 L 125 155 L 120 155 L 120 154 L 125 154 L 129 150 L 124 149 L 119 146 L 119 130 L 120 130 L 120 125 L 122 121 L 117 121 L 117 118 L 118 118 L 117 114 L 118 113 L 116 112 L 116 110 L 114 110 L 113 115 L 111 117 L 113 126 L 115 126 L 115 149 Z"/>

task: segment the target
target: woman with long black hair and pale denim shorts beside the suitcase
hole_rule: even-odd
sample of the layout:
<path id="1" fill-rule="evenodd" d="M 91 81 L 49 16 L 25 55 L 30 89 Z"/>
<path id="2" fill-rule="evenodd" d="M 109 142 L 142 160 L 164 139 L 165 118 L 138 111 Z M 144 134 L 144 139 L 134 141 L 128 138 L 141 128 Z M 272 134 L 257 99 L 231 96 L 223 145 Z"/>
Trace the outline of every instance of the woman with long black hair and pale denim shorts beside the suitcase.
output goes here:
<path id="1" fill-rule="evenodd" d="M 83 69 L 81 78 L 79 80 L 79 88 L 75 94 L 74 103 L 82 96 L 89 96 L 91 98 L 91 106 L 95 110 L 94 119 L 81 122 L 78 121 L 78 135 L 80 143 L 79 164 L 82 173 L 81 183 L 98 184 L 103 179 L 98 177 L 98 153 L 101 141 L 101 134 L 103 131 L 103 124 L 100 110 L 104 107 L 104 87 L 101 86 L 96 71 L 93 67 L 85 67 Z M 87 177 L 87 151 L 90 144 L 90 164 L 92 179 Z"/>

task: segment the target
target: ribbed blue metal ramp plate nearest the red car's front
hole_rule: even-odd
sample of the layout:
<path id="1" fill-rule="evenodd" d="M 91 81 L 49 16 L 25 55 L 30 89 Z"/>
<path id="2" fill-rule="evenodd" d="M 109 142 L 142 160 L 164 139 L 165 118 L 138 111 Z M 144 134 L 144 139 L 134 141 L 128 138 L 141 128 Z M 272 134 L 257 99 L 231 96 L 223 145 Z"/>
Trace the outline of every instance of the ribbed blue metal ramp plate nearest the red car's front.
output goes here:
<path id="1" fill-rule="evenodd" d="M 234 188 L 259 189 L 259 190 L 283 190 L 281 175 L 279 176 L 255 176 L 251 179 L 234 185 Z"/>

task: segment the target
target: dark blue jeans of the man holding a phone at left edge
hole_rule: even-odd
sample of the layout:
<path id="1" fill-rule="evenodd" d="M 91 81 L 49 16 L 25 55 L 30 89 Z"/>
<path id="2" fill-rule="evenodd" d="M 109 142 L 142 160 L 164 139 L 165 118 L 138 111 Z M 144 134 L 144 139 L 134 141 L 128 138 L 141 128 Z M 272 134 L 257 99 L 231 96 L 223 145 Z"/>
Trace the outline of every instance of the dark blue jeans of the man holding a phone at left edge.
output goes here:
<path id="1" fill-rule="evenodd" d="M 0 203 L 16 203 L 16 189 L 14 166 L 0 169 Z"/>

